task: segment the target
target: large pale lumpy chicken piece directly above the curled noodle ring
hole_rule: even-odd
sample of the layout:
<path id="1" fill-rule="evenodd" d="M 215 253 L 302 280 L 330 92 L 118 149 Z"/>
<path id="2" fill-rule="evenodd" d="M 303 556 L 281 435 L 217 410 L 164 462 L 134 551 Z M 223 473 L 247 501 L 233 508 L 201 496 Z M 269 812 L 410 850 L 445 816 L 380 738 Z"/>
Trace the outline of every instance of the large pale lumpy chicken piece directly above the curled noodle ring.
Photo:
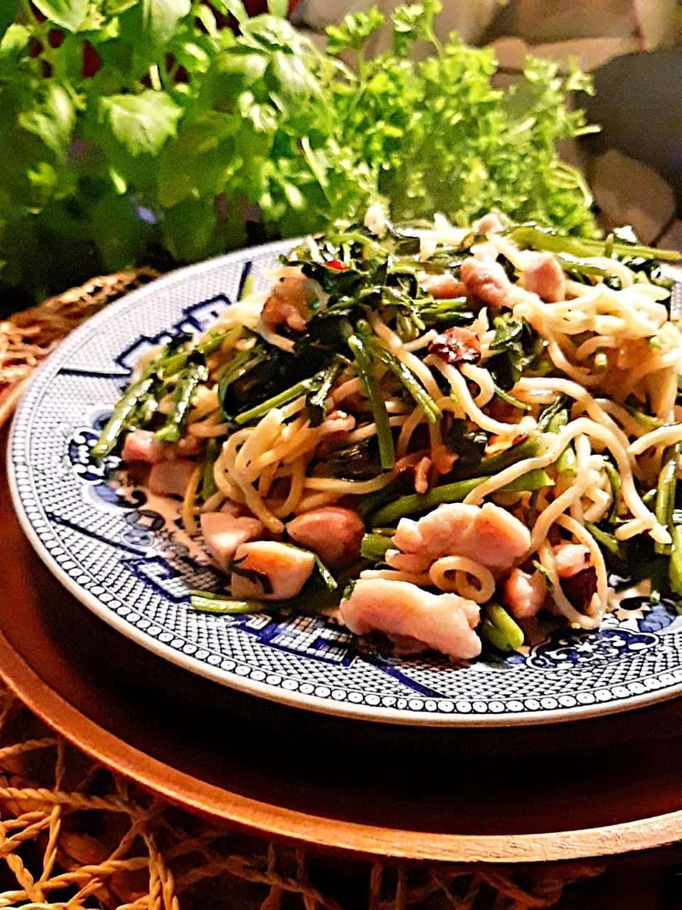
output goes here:
<path id="1" fill-rule="evenodd" d="M 393 536 L 404 553 L 430 557 L 466 556 L 497 572 L 511 569 L 530 546 L 530 533 L 492 502 L 439 506 L 419 521 L 403 518 Z"/>

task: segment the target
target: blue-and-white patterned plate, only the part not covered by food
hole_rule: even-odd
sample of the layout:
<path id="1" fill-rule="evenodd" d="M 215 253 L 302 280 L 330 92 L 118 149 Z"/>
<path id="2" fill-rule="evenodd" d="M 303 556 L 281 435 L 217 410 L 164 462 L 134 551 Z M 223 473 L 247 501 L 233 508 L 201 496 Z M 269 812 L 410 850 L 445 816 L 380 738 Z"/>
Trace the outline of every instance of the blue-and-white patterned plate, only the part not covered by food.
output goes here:
<path id="1" fill-rule="evenodd" d="M 10 482 L 24 530 L 56 577 L 167 660 L 314 711 L 411 724 L 548 723 L 682 693 L 682 617 L 665 605 L 622 611 L 599 632 L 559 630 L 527 653 L 465 667 L 368 652 L 324 616 L 190 610 L 192 588 L 221 582 L 206 553 L 177 528 L 167 501 L 121 488 L 118 460 L 96 463 L 90 450 L 145 349 L 206 329 L 249 270 L 266 288 L 264 271 L 291 246 L 234 253 L 155 281 L 90 319 L 38 370 L 15 417 Z"/>

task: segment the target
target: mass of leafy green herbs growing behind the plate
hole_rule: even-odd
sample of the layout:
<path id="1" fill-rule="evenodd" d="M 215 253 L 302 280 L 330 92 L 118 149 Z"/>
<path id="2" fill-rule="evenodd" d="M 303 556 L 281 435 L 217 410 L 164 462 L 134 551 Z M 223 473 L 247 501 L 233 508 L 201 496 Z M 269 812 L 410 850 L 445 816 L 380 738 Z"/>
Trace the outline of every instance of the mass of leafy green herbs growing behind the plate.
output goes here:
<path id="1" fill-rule="evenodd" d="M 233 34 L 198 0 L 36 0 L 44 22 L 27 3 L 0 4 L 7 307 L 98 270 L 242 247 L 246 211 L 267 238 L 356 219 L 381 197 L 396 221 L 443 211 L 466 224 L 496 206 L 518 222 L 595 235 L 582 179 L 556 154 L 586 129 L 566 105 L 567 92 L 589 90 L 577 71 L 529 58 L 518 85 L 493 88 L 490 49 L 436 41 L 435 0 L 393 10 L 393 52 L 366 55 L 383 22 L 371 8 L 331 27 L 325 54 L 281 17 L 285 5 L 271 0 L 269 15 L 249 18 L 240 0 L 216 0 L 239 25 Z M 417 61 L 422 41 L 434 53 Z M 354 69 L 337 59 L 345 49 Z M 613 247 L 647 260 L 621 238 Z M 403 280 L 386 293 L 401 332 L 472 319 L 461 301 L 410 311 Z"/>

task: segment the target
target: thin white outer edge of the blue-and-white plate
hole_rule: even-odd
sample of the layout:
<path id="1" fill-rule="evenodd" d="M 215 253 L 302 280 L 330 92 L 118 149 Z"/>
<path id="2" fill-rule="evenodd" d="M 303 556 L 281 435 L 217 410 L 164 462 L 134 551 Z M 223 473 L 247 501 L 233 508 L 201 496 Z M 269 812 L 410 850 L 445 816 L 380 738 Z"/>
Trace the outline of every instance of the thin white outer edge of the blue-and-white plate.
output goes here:
<path id="1" fill-rule="evenodd" d="M 357 704 L 348 702 L 338 702 L 333 699 L 322 698 L 315 694 L 300 693 L 298 691 L 289 692 L 281 687 L 268 685 L 266 682 L 253 680 L 250 677 L 241 676 L 234 670 L 228 671 L 219 666 L 213 666 L 209 663 L 197 660 L 192 654 L 180 652 L 165 642 L 159 642 L 151 635 L 145 634 L 135 625 L 126 622 L 115 611 L 111 610 L 105 604 L 99 602 L 95 595 L 85 591 L 68 573 L 59 565 L 55 558 L 45 547 L 43 541 L 38 537 L 31 520 L 25 511 L 22 495 L 18 490 L 17 479 L 15 474 L 15 461 L 13 452 L 16 445 L 16 436 L 20 423 L 25 419 L 24 411 L 28 407 L 27 402 L 30 398 L 31 391 L 38 386 L 39 382 L 49 369 L 57 362 L 60 357 L 64 356 L 65 347 L 74 344 L 78 336 L 88 329 L 96 329 L 99 323 L 103 325 L 111 318 L 112 312 L 117 309 L 124 309 L 134 305 L 137 298 L 153 296 L 158 290 L 163 290 L 166 286 L 172 286 L 178 279 L 181 281 L 191 277 L 195 273 L 201 273 L 207 268 L 220 268 L 223 264 L 228 264 L 231 260 L 239 261 L 245 256 L 257 256 L 258 254 L 271 251 L 273 255 L 277 252 L 296 246 L 300 238 L 289 240 L 276 240 L 272 243 L 261 244 L 256 247 L 243 248 L 221 256 L 206 259 L 202 262 L 195 263 L 184 268 L 176 268 L 162 278 L 156 278 L 154 281 L 146 284 L 142 288 L 136 288 L 125 297 L 115 300 L 103 308 L 99 313 L 90 319 L 86 319 L 80 326 L 74 329 L 67 338 L 61 342 L 57 348 L 45 359 L 45 361 L 35 369 L 35 372 L 28 380 L 25 389 L 23 389 L 21 398 L 15 411 L 12 426 L 10 428 L 7 440 L 6 462 L 7 462 L 7 480 L 10 494 L 12 497 L 16 516 L 24 531 L 26 538 L 30 542 L 34 551 L 47 569 L 55 575 L 55 578 L 69 591 L 77 601 L 83 603 L 85 607 L 95 615 L 112 626 L 117 632 L 125 635 L 126 638 L 144 647 L 146 650 L 155 653 L 164 660 L 185 669 L 186 671 L 196 673 L 205 677 L 212 682 L 220 685 L 226 685 L 229 688 L 236 689 L 239 692 L 256 695 L 259 698 L 266 698 L 268 701 L 286 704 L 290 707 L 300 708 L 314 713 L 325 713 L 336 717 L 350 717 L 360 720 L 372 721 L 374 723 L 400 724 L 403 726 L 414 727 L 455 727 L 472 729 L 476 727 L 517 727 L 517 726 L 539 726 L 551 723 L 570 723 L 578 720 L 586 720 L 605 716 L 607 714 L 622 713 L 633 711 L 637 708 L 645 707 L 654 703 L 668 701 L 682 695 L 682 682 L 667 686 L 667 688 L 651 689 L 646 693 L 632 694 L 628 698 L 617 701 L 597 702 L 594 704 L 580 705 L 575 708 L 556 708 L 545 709 L 540 712 L 506 712 L 506 713 L 436 713 L 426 711 L 424 713 L 412 712 L 393 707 L 382 707 Z M 27 440 L 30 439 L 31 425 L 27 427 Z"/>

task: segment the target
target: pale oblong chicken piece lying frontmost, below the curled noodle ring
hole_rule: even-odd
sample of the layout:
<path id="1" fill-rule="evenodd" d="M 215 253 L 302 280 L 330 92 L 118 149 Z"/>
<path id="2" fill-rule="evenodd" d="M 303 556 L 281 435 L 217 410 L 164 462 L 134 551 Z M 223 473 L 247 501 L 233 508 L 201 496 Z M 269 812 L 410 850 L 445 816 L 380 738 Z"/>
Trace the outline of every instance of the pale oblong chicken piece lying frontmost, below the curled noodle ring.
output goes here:
<path id="1" fill-rule="evenodd" d="M 481 652 L 474 627 L 478 605 L 457 594 L 431 594 L 409 581 L 357 581 L 341 616 L 351 632 L 365 635 L 374 629 L 407 636 L 429 648 L 462 660 Z"/>

